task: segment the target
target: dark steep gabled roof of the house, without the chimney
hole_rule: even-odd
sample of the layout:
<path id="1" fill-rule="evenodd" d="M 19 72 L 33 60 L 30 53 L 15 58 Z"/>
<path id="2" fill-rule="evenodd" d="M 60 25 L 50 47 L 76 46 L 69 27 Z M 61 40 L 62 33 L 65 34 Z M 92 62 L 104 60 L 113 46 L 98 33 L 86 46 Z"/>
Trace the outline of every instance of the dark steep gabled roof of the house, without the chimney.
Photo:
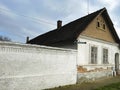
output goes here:
<path id="1" fill-rule="evenodd" d="M 116 42 L 119 43 L 119 37 L 105 8 L 72 21 L 59 29 L 55 29 L 45 34 L 39 35 L 36 38 L 28 41 L 28 43 L 51 45 L 53 43 L 62 41 L 74 41 L 77 39 L 78 35 L 87 27 L 87 25 L 99 14 L 102 14 L 105 20 L 108 22 L 108 26 L 111 28 L 111 32 L 113 33 Z"/>

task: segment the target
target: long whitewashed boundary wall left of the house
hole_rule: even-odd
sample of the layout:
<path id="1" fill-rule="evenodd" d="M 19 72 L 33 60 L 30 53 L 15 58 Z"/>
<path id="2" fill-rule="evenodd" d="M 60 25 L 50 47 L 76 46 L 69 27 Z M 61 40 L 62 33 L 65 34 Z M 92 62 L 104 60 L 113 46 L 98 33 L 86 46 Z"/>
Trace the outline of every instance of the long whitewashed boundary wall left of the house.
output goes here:
<path id="1" fill-rule="evenodd" d="M 75 84 L 71 49 L 0 42 L 0 90 L 41 90 Z"/>

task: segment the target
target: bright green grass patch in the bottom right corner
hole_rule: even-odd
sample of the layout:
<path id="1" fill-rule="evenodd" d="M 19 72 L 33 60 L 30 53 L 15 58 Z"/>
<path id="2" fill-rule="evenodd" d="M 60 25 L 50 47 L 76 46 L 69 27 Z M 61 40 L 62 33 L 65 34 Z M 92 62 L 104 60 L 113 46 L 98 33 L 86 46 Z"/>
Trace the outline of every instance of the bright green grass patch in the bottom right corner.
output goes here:
<path id="1" fill-rule="evenodd" d="M 104 86 L 104 87 L 100 87 L 100 88 L 94 89 L 94 90 L 120 90 L 120 82 L 110 84 L 110 85 L 107 85 L 107 86 Z"/>

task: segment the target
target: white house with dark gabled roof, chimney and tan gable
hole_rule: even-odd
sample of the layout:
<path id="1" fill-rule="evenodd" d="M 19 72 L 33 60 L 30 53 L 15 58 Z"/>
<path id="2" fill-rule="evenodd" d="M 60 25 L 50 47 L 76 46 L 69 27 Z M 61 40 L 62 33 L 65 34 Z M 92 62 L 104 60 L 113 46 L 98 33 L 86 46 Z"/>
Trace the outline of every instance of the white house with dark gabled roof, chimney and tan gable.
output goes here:
<path id="1" fill-rule="evenodd" d="M 37 36 L 27 43 L 77 49 L 78 72 L 119 71 L 120 39 L 106 8 Z"/>

